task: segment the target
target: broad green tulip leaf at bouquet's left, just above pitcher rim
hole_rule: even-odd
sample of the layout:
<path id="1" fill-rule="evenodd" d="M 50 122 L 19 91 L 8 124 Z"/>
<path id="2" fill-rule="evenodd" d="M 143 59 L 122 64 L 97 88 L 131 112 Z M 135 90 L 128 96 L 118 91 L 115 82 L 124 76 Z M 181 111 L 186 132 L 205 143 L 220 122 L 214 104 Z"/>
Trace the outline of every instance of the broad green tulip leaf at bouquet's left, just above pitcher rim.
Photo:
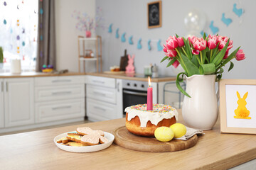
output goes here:
<path id="1" fill-rule="evenodd" d="M 183 53 L 181 53 L 181 63 L 184 64 L 185 68 L 183 67 L 183 69 L 188 74 L 188 77 L 191 77 L 193 74 L 199 74 L 198 67 L 196 67 L 196 65 L 193 64 L 193 62 L 191 62 L 186 55 L 183 55 Z"/>

